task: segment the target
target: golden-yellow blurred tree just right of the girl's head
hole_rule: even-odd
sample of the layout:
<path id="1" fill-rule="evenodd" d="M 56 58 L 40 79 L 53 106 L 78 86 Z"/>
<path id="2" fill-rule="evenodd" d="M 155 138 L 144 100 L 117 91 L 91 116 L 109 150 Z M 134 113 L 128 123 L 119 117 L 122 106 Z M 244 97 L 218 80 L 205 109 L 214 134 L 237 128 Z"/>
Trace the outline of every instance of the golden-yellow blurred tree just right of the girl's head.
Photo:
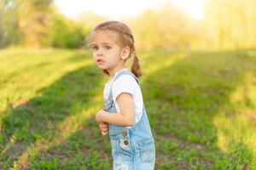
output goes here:
<path id="1" fill-rule="evenodd" d="M 159 10 L 148 9 L 125 21 L 135 32 L 137 47 L 142 49 L 188 49 L 205 36 L 200 30 L 203 29 L 201 23 L 191 20 L 174 3 L 165 3 Z"/>

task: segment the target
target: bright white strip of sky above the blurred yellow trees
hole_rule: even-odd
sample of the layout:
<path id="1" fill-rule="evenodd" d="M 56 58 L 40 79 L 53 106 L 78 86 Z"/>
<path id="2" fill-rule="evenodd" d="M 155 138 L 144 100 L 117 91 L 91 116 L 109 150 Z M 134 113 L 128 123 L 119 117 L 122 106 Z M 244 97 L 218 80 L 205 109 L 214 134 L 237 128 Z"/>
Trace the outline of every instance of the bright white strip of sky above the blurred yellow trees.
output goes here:
<path id="1" fill-rule="evenodd" d="M 163 3 L 173 2 L 195 20 L 204 18 L 203 4 L 206 0 L 55 0 L 61 13 L 70 18 L 76 18 L 86 11 L 93 11 L 99 15 L 105 15 L 113 20 L 125 16 L 134 16 L 147 8 L 157 8 Z"/>

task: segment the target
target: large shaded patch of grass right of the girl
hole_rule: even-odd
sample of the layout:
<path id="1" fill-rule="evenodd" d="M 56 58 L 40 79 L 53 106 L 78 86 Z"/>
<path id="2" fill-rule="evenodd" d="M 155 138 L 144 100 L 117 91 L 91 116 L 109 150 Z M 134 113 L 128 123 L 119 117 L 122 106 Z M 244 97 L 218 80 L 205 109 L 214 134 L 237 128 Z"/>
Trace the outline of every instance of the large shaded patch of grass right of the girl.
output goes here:
<path id="1" fill-rule="evenodd" d="M 256 73 L 255 64 L 246 52 L 192 53 L 143 80 L 156 139 L 156 169 L 253 167 L 253 151 L 241 139 L 231 139 L 230 154 L 220 150 L 221 127 L 214 119 L 220 111 L 232 119 L 230 95 L 243 85 L 248 72 Z"/>

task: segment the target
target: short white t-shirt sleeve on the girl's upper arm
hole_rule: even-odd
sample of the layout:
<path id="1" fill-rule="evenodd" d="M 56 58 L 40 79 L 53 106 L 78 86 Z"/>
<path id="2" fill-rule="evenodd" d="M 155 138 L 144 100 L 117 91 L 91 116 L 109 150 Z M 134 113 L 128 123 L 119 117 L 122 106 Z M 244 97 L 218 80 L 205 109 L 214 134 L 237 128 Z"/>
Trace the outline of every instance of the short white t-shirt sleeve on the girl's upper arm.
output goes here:
<path id="1" fill-rule="evenodd" d="M 119 94 L 129 93 L 134 97 L 137 82 L 131 75 L 122 75 L 113 82 L 113 99 L 116 100 Z"/>

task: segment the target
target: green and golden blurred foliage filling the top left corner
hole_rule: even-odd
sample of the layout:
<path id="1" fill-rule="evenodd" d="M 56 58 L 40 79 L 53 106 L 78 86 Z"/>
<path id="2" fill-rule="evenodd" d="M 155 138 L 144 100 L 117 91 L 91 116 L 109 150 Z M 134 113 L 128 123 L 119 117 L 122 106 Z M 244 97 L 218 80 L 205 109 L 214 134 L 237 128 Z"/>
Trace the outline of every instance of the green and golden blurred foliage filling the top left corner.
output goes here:
<path id="1" fill-rule="evenodd" d="M 53 0 L 1 0 L 0 46 L 20 42 L 40 46 L 47 36 Z"/>

